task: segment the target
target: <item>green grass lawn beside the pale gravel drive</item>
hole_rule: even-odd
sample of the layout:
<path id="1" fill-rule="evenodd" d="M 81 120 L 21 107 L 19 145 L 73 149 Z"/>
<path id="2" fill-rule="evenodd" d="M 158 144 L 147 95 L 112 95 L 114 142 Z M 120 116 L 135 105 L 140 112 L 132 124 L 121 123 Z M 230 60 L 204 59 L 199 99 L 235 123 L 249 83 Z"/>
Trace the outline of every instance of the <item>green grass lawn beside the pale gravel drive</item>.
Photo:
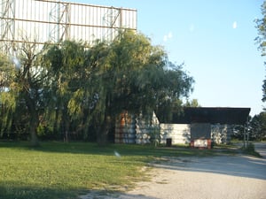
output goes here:
<path id="1" fill-rule="evenodd" d="M 185 147 L 42 142 L 31 148 L 28 142 L 0 142 L 0 199 L 74 199 L 91 189 L 132 188 L 146 180 L 140 169 L 156 157 L 213 154 Z"/>

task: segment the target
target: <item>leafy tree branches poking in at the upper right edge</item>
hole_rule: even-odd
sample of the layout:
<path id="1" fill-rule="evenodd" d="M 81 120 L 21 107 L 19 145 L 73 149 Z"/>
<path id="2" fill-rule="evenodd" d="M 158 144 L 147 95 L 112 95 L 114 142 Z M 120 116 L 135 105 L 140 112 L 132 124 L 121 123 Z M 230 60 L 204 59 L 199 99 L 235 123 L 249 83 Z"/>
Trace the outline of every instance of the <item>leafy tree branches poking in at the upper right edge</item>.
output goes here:
<path id="1" fill-rule="evenodd" d="M 266 2 L 262 4 L 262 19 L 256 19 L 256 28 L 258 30 L 258 36 L 255 41 L 259 44 L 259 50 L 262 51 L 262 57 L 266 55 Z M 265 65 L 265 62 L 264 62 Z M 262 84 L 262 102 L 266 102 L 266 80 L 263 80 Z"/>

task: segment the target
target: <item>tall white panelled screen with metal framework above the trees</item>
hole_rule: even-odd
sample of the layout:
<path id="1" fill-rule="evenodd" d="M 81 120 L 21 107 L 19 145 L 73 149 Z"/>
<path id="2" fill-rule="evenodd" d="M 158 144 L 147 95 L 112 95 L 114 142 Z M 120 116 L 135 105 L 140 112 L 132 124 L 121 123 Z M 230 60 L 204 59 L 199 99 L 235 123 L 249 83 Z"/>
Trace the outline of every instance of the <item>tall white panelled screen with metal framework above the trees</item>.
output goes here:
<path id="1" fill-rule="evenodd" d="M 137 10 L 58 0 L 0 0 L 0 51 L 21 43 L 112 41 L 118 29 L 137 30 Z"/>

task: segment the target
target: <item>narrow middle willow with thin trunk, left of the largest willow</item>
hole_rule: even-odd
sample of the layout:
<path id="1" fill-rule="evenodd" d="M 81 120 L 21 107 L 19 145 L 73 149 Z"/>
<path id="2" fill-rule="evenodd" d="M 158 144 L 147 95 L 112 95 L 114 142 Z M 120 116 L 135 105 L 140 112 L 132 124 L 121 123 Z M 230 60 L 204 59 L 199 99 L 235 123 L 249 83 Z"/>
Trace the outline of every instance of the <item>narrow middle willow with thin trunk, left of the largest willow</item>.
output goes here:
<path id="1" fill-rule="evenodd" d="M 45 46 L 43 52 L 42 65 L 49 75 L 45 83 L 48 109 L 44 117 L 52 124 L 53 131 L 64 133 L 68 142 L 72 124 L 83 117 L 84 89 L 90 88 L 86 84 L 90 72 L 84 67 L 84 44 L 65 41 Z"/>

